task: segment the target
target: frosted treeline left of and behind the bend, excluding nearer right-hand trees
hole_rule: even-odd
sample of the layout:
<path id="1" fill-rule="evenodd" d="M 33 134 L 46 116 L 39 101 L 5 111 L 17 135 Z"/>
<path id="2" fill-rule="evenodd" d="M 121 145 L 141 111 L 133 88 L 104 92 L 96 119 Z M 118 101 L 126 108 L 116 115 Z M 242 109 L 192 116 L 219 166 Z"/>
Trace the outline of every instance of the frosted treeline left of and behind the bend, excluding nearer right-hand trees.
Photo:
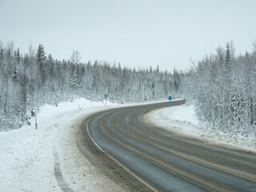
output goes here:
<path id="1" fill-rule="evenodd" d="M 186 74 L 159 69 L 136 70 L 108 62 L 80 62 L 78 51 L 69 60 L 46 55 L 42 45 L 21 54 L 14 42 L 0 42 L 0 130 L 16 129 L 39 106 L 73 98 L 111 102 L 147 102 L 180 96 L 186 90 Z"/>

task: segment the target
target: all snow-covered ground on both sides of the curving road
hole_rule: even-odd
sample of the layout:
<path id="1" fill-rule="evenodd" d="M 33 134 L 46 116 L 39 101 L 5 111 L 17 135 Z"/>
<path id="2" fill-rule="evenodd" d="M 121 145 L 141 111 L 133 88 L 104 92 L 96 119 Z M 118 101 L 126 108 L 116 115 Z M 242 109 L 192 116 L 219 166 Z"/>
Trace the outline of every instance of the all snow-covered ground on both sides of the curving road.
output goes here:
<path id="1" fill-rule="evenodd" d="M 118 105 L 108 102 L 105 106 L 105 102 L 83 98 L 59 103 L 58 107 L 46 105 L 38 113 L 37 130 L 33 118 L 31 126 L 0 132 L 0 191 L 122 191 L 121 186 L 92 166 L 76 145 L 86 115 L 114 107 Z M 164 108 L 147 115 L 156 124 L 180 134 L 256 151 L 254 138 L 234 137 L 198 126 L 193 106 Z"/>

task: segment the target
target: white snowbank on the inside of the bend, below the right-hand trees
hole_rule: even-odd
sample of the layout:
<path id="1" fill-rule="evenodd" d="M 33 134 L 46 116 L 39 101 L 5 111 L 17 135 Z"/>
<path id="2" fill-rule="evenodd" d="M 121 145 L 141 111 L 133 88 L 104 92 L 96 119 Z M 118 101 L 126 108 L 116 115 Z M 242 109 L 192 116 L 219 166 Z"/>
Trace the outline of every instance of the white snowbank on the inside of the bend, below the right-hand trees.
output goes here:
<path id="1" fill-rule="evenodd" d="M 256 138 L 226 134 L 201 126 L 195 116 L 194 106 L 173 106 L 146 114 L 147 121 L 161 126 L 165 130 L 200 139 L 214 145 L 225 145 L 238 150 L 256 152 Z"/>

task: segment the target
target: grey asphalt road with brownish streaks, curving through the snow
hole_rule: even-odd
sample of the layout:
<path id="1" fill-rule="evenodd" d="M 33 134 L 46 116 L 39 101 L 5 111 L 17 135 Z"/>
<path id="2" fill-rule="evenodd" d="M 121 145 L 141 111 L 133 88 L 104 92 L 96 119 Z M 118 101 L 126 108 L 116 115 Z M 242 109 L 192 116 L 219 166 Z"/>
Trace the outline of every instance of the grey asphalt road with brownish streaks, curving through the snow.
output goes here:
<path id="1" fill-rule="evenodd" d="M 143 114 L 184 101 L 106 110 L 86 118 L 90 138 L 155 191 L 256 191 L 256 156 L 182 138 Z"/>

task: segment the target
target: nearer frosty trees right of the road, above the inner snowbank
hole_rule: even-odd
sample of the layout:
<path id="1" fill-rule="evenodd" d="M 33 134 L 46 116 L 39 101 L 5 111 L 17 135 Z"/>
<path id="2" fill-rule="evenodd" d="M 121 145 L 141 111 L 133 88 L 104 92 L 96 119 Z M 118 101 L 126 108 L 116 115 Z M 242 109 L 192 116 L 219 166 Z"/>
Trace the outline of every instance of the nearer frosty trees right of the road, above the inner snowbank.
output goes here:
<path id="1" fill-rule="evenodd" d="M 190 70 L 190 94 L 206 126 L 256 137 L 255 45 L 252 53 L 235 56 L 227 43 Z"/>

